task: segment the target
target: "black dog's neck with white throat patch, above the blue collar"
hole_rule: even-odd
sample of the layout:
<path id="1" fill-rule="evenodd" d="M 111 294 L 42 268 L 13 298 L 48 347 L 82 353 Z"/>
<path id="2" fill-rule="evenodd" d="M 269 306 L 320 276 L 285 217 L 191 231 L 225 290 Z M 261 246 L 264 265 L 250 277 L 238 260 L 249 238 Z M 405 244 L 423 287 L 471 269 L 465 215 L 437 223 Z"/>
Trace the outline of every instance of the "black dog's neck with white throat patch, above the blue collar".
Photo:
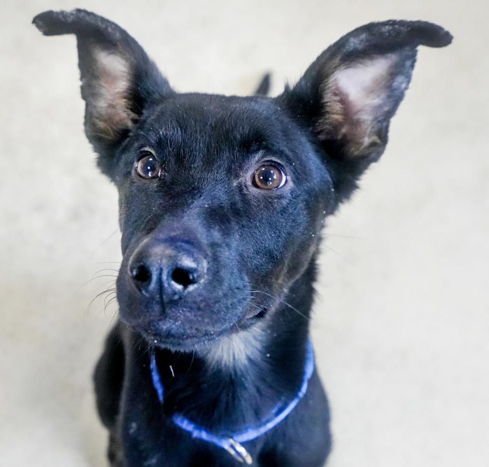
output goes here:
<path id="1" fill-rule="evenodd" d="M 155 349 L 165 413 L 217 432 L 233 431 L 259 424 L 277 404 L 292 400 L 304 377 L 312 296 L 305 273 L 286 304 L 249 331 L 195 353 Z"/>

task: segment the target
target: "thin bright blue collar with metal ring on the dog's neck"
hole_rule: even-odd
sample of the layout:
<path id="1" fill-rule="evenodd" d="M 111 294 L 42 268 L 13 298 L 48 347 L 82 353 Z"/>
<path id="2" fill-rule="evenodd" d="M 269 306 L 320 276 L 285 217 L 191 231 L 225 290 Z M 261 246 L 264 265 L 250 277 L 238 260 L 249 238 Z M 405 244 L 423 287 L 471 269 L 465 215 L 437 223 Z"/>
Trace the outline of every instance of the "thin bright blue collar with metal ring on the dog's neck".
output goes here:
<path id="1" fill-rule="evenodd" d="M 229 436 L 216 436 L 206 430 L 203 427 L 196 425 L 187 418 L 180 414 L 173 414 L 172 421 L 175 425 L 179 426 L 182 430 L 187 431 L 192 435 L 193 438 L 202 439 L 202 441 L 207 441 L 215 446 L 225 449 L 229 452 L 236 460 L 239 462 L 246 462 L 251 464 L 253 462 L 250 454 L 241 443 L 246 443 L 247 441 L 252 441 L 259 436 L 265 434 L 267 431 L 271 430 L 277 426 L 282 420 L 291 413 L 299 401 L 304 397 L 307 391 L 309 380 L 311 379 L 312 373 L 314 371 L 314 355 L 312 351 L 311 341 L 307 342 L 306 348 L 306 363 L 304 365 L 304 376 L 302 378 L 301 388 L 297 392 L 296 396 L 284 407 L 277 407 L 270 414 L 268 421 L 260 426 L 253 426 L 245 428 L 236 433 L 230 433 Z M 160 403 L 163 403 L 165 389 L 161 383 L 161 377 L 156 366 L 156 358 L 154 352 L 151 354 L 151 378 L 153 380 L 153 386 L 158 395 Z"/>

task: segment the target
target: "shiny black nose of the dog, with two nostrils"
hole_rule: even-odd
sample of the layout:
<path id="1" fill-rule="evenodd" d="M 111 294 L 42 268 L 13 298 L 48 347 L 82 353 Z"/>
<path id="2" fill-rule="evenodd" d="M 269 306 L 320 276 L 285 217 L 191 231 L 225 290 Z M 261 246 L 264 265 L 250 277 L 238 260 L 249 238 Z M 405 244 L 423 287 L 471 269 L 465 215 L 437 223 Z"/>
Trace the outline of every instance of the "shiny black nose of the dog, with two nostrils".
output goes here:
<path id="1" fill-rule="evenodd" d="M 207 262 L 188 242 L 143 242 L 129 260 L 128 272 L 144 295 L 177 300 L 204 280 Z"/>

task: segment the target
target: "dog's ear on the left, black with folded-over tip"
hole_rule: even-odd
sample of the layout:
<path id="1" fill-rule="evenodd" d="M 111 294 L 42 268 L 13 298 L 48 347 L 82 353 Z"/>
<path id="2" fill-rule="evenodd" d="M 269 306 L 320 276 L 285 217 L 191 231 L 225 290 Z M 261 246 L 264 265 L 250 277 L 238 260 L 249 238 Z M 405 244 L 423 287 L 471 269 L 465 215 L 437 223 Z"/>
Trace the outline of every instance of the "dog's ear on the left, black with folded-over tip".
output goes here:
<path id="1" fill-rule="evenodd" d="M 46 36 L 75 34 L 85 132 L 110 173 L 115 151 L 152 100 L 172 93 L 143 48 L 117 24 L 85 10 L 46 11 L 33 23 Z"/>

